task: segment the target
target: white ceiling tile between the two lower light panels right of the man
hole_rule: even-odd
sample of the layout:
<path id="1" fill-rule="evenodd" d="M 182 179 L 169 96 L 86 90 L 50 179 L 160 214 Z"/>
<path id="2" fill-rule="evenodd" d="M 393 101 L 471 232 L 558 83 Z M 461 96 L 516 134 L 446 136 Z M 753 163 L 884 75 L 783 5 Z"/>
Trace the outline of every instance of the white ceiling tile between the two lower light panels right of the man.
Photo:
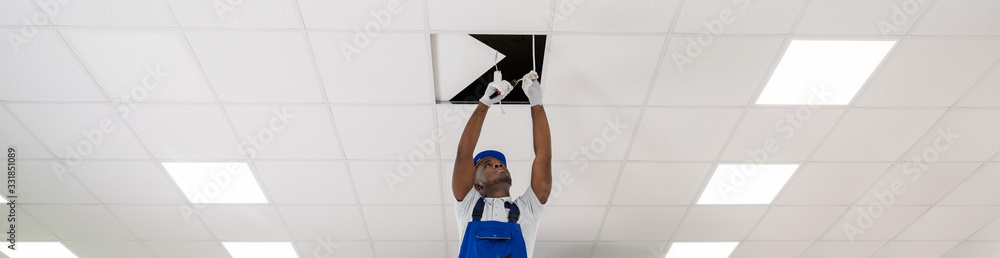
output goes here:
<path id="1" fill-rule="evenodd" d="M 694 206 L 677 226 L 674 241 L 740 241 L 767 206 Z"/>

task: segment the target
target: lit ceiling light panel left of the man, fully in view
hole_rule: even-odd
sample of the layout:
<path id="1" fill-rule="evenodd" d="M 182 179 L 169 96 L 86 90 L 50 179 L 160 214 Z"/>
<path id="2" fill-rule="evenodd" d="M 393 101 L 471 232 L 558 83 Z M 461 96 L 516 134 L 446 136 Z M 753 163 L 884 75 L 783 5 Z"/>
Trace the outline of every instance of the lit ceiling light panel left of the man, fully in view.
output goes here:
<path id="1" fill-rule="evenodd" d="M 246 163 L 164 162 L 191 203 L 267 203 Z"/>

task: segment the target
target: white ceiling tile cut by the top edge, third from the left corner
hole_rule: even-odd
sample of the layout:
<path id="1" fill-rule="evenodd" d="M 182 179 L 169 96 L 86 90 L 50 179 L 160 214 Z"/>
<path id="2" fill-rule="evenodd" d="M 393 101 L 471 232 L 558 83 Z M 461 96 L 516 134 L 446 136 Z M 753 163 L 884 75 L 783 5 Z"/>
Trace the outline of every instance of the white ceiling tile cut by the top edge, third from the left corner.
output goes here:
<path id="1" fill-rule="evenodd" d="M 299 6 L 281 1 L 167 0 L 181 27 L 302 28 Z"/>

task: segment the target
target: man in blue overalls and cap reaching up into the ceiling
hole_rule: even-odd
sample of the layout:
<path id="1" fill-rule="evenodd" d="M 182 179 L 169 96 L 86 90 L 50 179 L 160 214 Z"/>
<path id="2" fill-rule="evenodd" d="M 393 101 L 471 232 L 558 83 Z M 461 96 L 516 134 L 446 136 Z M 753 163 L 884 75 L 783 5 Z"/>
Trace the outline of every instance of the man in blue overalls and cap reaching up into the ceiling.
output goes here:
<path id="1" fill-rule="evenodd" d="M 506 94 L 493 97 L 497 89 L 510 88 L 509 82 L 493 82 L 479 100 L 462 139 L 452 175 L 455 193 L 455 216 L 462 239 L 459 258 L 529 258 L 535 248 L 542 207 L 552 189 L 552 140 L 549 122 L 542 108 L 542 90 L 538 75 L 531 71 L 521 80 L 528 96 L 535 146 L 531 165 L 531 185 L 516 199 L 510 196 L 510 171 L 507 159 L 499 151 L 472 155 L 490 106 Z M 502 85 L 506 84 L 506 85 Z M 492 98 L 491 98 L 492 97 Z"/>

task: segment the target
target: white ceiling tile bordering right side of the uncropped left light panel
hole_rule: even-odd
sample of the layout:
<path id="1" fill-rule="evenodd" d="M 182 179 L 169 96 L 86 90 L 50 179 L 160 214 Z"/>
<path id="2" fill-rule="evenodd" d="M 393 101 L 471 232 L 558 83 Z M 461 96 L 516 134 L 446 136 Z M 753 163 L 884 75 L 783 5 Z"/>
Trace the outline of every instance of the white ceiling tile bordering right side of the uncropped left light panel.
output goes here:
<path id="1" fill-rule="evenodd" d="M 342 161 L 254 161 L 277 204 L 357 204 L 351 175 Z"/>

